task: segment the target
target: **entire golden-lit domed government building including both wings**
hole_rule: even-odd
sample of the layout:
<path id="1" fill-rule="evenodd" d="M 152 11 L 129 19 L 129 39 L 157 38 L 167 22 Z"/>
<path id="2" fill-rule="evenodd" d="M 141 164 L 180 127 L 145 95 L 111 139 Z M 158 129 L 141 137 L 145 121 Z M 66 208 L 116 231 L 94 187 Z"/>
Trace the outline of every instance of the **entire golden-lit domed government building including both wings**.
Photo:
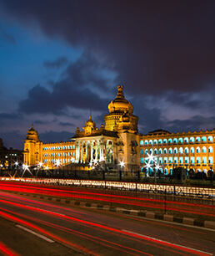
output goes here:
<path id="1" fill-rule="evenodd" d="M 117 86 L 117 97 L 108 105 L 104 115 L 105 125 L 97 128 L 92 117 L 82 131 L 77 128 L 70 141 L 42 143 L 37 131 L 28 130 L 24 143 L 24 163 L 28 166 L 43 164 L 54 168 L 79 166 L 89 170 L 92 166 L 106 170 L 140 170 L 149 174 L 154 166 L 168 175 L 173 168 L 183 166 L 194 172 L 213 169 L 215 157 L 215 131 L 170 133 L 164 130 L 138 133 L 138 116 L 133 115 L 133 105 L 125 99 L 123 86 Z M 153 161 L 149 156 L 153 156 Z M 151 166 L 148 165 L 151 163 Z"/>

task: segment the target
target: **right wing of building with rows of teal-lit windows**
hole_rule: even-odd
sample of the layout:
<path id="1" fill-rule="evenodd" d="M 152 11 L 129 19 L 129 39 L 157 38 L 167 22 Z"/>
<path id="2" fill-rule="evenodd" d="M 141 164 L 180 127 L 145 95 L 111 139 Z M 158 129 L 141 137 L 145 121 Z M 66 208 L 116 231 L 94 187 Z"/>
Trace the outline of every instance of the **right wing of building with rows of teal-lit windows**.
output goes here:
<path id="1" fill-rule="evenodd" d="M 140 139 L 140 165 L 146 166 L 148 154 L 155 156 L 162 172 L 172 174 L 173 168 L 183 166 L 194 172 L 208 172 L 214 167 L 215 131 L 170 133 L 157 130 Z M 152 172 L 148 168 L 147 172 Z"/>

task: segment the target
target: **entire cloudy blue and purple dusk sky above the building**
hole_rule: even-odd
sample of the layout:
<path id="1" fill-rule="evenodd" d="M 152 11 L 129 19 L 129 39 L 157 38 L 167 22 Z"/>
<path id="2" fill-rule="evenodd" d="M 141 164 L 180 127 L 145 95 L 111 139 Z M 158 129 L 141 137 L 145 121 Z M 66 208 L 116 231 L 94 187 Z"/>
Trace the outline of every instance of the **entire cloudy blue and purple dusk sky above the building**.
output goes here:
<path id="1" fill-rule="evenodd" d="M 215 1 L 0 0 L 0 137 L 100 127 L 117 84 L 139 131 L 215 128 Z"/>

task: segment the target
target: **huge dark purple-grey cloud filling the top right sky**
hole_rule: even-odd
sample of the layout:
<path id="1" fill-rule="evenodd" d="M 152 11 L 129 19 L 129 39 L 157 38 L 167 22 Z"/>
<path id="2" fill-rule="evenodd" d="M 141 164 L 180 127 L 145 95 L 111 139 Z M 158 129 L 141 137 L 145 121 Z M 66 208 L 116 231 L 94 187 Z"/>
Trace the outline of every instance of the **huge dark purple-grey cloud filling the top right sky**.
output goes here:
<path id="1" fill-rule="evenodd" d="M 129 93 L 194 92 L 214 84 L 213 1 L 2 1 L 19 22 L 91 50 Z M 57 7 L 57 8 L 53 8 Z M 133 87 L 135 85 L 135 87 Z"/>

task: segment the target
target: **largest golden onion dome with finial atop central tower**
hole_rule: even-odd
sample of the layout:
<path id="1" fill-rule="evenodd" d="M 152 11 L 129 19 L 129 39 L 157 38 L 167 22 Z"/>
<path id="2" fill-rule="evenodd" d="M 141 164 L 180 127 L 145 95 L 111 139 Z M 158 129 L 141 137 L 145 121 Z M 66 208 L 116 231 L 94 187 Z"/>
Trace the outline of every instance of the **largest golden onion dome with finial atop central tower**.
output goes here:
<path id="1" fill-rule="evenodd" d="M 125 99 L 123 95 L 123 85 L 117 86 L 117 98 L 112 100 L 108 105 L 108 110 L 110 114 L 113 113 L 125 113 L 133 114 L 133 105 Z"/>

